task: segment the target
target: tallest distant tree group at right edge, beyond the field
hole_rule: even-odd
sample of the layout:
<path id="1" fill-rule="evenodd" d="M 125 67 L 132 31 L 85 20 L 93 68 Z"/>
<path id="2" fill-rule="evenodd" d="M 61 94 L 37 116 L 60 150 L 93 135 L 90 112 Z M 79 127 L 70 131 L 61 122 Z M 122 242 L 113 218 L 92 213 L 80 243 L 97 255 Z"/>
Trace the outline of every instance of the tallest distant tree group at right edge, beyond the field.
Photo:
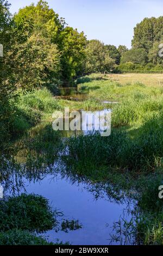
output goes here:
<path id="1" fill-rule="evenodd" d="M 163 72 L 163 16 L 145 18 L 134 28 L 132 48 L 121 58 L 118 70 L 124 72 Z"/>

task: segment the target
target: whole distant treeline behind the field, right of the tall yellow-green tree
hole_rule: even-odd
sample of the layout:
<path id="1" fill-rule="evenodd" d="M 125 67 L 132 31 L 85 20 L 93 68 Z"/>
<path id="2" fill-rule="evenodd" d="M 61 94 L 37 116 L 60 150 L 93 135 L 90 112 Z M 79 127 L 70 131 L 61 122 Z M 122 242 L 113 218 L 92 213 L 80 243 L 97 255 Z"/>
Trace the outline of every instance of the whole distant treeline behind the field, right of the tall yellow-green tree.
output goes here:
<path id="1" fill-rule="evenodd" d="M 163 16 L 145 18 L 134 28 L 131 49 L 87 42 L 85 72 L 163 72 Z M 162 44 L 162 45 L 161 45 Z"/>

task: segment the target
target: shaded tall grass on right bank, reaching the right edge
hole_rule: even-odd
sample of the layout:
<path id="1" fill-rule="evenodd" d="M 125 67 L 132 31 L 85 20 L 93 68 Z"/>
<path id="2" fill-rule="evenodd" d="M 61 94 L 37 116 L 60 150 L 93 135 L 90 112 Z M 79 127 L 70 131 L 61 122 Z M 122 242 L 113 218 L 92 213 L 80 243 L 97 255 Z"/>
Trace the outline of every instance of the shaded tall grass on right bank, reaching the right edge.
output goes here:
<path id="1" fill-rule="evenodd" d="M 163 114 L 143 123 L 139 135 L 133 139 L 126 132 L 114 131 L 109 137 L 99 134 L 68 139 L 69 165 L 86 173 L 90 169 L 111 166 L 138 173 L 151 173 L 159 167 L 163 157 Z"/>

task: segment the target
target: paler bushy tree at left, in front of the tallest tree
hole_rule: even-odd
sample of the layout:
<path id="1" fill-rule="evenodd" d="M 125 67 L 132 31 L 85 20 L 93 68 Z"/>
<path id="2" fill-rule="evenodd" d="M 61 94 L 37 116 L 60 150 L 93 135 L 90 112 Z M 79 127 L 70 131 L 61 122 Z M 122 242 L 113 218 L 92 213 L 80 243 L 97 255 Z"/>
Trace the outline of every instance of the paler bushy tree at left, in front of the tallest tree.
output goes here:
<path id="1" fill-rule="evenodd" d="M 60 72 L 60 53 L 51 40 L 33 34 L 25 42 L 17 42 L 7 53 L 17 88 L 32 90 L 51 83 Z"/>

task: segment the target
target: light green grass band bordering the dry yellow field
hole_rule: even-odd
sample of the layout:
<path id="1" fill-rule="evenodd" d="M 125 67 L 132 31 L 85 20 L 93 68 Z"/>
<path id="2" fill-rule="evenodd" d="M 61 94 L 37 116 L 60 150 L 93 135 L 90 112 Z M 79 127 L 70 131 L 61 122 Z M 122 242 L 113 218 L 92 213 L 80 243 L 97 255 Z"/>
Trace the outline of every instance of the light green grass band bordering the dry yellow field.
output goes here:
<path id="1" fill-rule="evenodd" d="M 161 87 L 145 86 L 140 82 L 120 84 L 115 81 L 104 78 L 104 80 L 91 80 L 78 84 L 79 92 L 87 93 L 91 99 L 98 100 L 113 100 L 122 102 L 129 97 L 138 95 L 146 96 L 160 96 L 163 92 Z"/>

